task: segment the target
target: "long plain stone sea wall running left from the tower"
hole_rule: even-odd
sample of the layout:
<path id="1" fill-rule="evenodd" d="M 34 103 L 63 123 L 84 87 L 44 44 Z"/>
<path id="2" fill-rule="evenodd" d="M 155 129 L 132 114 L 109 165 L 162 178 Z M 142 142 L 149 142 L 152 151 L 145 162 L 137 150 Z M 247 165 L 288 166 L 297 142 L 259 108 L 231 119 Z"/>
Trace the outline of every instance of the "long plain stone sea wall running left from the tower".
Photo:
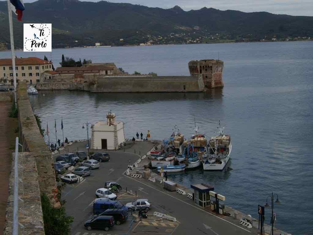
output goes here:
<path id="1" fill-rule="evenodd" d="M 202 92 L 200 76 L 103 76 L 92 92 Z"/>

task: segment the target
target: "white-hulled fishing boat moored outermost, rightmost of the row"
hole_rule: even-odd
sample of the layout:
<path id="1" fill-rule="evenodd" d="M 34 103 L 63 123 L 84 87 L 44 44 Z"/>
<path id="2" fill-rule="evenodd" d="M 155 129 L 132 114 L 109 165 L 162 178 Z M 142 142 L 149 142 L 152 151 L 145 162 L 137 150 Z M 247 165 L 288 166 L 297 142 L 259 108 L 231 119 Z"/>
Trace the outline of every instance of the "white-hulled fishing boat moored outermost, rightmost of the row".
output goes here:
<path id="1" fill-rule="evenodd" d="M 224 128 L 221 128 L 220 122 L 218 122 L 218 125 L 219 135 L 211 137 L 208 142 L 206 154 L 203 157 L 203 170 L 222 171 L 230 159 L 232 151 L 230 136 L 224 134 Z"/>

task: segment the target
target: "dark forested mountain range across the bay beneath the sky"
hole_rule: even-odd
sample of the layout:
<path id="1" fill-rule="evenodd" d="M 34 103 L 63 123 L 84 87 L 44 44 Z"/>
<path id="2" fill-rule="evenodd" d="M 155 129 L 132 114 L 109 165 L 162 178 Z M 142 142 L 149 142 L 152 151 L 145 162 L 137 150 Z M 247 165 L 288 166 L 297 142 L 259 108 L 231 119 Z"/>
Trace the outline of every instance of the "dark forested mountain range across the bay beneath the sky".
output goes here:
<path id="1" fill-rule="evenodd" d="M 151 41 L 200 43 L 313 37 L 313 17 L 244 13 L 214 8 L 184 11 L 130 3 L 38 0 L 25 3 L 23 23 L 13 14 L 14 42 L 23 48 L 23 23 L 52 23 L 52 46 L 128 45 Z M 0 44 L 9 48 L 7 1 L 0 1 Z"/>

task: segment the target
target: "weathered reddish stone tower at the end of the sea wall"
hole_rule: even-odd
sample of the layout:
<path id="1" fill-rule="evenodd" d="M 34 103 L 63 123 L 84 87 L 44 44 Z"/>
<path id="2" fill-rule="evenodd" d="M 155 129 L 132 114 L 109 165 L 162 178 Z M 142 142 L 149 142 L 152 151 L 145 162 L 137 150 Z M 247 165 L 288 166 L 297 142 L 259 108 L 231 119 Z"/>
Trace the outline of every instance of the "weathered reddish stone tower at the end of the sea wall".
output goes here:
<path id="1" fill-rule="evenodd" d="M 223 87 L 222 60 L 191 60 L 188 68 L 191 76 L 202 76 L 206 89 Z"/>

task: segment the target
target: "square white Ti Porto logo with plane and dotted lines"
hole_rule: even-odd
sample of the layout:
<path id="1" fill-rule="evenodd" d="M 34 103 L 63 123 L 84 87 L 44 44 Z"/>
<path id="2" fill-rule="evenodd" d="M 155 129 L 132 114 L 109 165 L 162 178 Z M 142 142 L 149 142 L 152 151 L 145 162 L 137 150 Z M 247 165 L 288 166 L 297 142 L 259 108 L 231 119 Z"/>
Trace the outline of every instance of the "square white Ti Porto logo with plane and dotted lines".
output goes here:
<path id="1" fill-rule="evenodd" d="M 52 24 L 23 24 L 24 51 L 51 51 Z"/>

